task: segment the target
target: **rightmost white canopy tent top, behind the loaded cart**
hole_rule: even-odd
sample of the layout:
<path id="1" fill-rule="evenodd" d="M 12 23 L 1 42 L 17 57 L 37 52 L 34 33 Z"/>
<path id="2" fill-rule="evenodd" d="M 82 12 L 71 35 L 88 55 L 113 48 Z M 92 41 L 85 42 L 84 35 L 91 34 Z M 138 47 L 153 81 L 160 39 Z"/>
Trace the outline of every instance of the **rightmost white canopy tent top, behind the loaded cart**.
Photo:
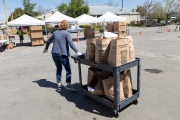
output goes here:
<path id="1" fill-rule="evenodd" d="M 106 12 L 102 16 L 98 17 L 97 22 L 125 22 L 125 17 L 117 16 L 111 12 Z"/>

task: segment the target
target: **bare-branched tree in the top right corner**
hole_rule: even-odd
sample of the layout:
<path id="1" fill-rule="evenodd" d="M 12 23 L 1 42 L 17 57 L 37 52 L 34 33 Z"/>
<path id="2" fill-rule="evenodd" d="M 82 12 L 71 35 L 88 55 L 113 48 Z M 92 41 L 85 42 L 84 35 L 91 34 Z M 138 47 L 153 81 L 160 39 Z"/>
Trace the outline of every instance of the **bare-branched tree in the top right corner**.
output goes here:
<path id="1" fill-rule="evenodd" d="M 165 14 L 166 14 L 166 22 L 173 12 L 176 12 L 179 9 L 180 0 L 164 0 L 165 3 Z"/>

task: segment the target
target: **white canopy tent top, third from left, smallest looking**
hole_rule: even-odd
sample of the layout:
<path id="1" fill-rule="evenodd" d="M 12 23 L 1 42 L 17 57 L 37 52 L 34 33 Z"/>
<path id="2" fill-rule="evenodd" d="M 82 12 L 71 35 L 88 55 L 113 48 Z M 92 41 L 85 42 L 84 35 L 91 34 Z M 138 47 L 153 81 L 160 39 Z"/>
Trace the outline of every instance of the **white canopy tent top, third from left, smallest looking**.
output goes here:
<path id="1" fill-rule="evenodd" d="M 90 15 L 87 14 L 83 14 L 77 18 L 75 18 L 76 22 L 78 25 L 80 24 L 86 24 L 86 23 L 97 23 L 98 19 L 95 17 L 92 17 Z"/>

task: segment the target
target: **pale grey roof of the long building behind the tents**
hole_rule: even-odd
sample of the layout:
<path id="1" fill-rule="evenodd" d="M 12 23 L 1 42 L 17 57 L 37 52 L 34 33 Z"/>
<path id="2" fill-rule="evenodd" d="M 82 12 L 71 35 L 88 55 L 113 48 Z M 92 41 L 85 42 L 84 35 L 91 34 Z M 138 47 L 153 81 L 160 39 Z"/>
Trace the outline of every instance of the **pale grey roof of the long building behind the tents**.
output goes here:
<path id="1" fill-rule="evenodd" d="M 136 11 L 119 8 L 108 5 L 89 5 L 89 14 L 90 15 L 102 15 L 107 11 L 114 13 L 116 15 L 129 15 L 129 14 L 139 14 Z"/>

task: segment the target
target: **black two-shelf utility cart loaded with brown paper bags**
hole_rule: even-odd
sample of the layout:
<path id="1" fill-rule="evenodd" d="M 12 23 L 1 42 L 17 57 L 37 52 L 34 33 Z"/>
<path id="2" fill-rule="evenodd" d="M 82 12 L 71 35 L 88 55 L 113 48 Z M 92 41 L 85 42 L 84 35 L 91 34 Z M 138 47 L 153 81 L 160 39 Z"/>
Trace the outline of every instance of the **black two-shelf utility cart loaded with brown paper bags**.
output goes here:
<path id="1" fill-rule="evenodd" d="M 118 117 L 118 112 L 122 110 L 125 106 L 134 103 L 137 104 L 137 98 L 139 98 L 140 95 L 140 59 L 136 58 L 134 61 L 131 61 L 129 63 L 123 64 L 121 66 L 114 66 L 109 64 L 103 64 L 95 61 L 90 61 L 85 59 L 85 55 L 74 55 L 71 56 L 72 59 L 74 59 L 75 63 L 78 63 L 78 69 L 79 69 L 79 82 L 81 86 L 81 90 L 83 92 L 83 97 L 87 98 L 90 97 L 92 99 L 95 99 L 96 101 L 110 107 L 113 109 L 113 114 L 115 117 Z M 100 96 L 93 95 L 91 92 L 87 90 L 87 85 L 82 84 L 82 74 L 81 74 L 81 64 L 88 65 L 91 67 L 95 67 L 104 71 L 109 71 L 113 73 L 114 77 L 114 102 L 107 100 L 106 98 L 102 98 Z M 137 66 L 137 89 L 133 88 L 133 95 L 129 98 L 126 98 L 125 100 L 120 102 L 120 72 L 130 69 L 132 67 Z"/>

